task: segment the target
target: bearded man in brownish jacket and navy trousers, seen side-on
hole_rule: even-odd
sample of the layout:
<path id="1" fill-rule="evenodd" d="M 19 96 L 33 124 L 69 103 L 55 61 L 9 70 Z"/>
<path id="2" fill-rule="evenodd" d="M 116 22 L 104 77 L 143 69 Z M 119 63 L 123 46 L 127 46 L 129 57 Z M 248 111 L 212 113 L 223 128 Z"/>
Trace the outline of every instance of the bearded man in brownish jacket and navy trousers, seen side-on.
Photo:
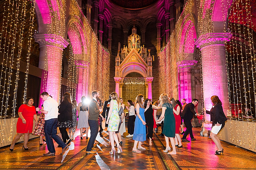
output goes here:
<path id="1" fill-rule="evenodd" d="M 99 109 L 97 100 L 99 100 L 99 92 L 97 90 L 92 91 L 92 100 L 89 104 L 89 116 L 88 123 L 91 130 L 91 137 L 87 144 L 86 154 L 95 154 L 96 149 L 94 149 L 93 144 L 98 135 L 99 130 L 99 113 L 102 109 Z"/>

